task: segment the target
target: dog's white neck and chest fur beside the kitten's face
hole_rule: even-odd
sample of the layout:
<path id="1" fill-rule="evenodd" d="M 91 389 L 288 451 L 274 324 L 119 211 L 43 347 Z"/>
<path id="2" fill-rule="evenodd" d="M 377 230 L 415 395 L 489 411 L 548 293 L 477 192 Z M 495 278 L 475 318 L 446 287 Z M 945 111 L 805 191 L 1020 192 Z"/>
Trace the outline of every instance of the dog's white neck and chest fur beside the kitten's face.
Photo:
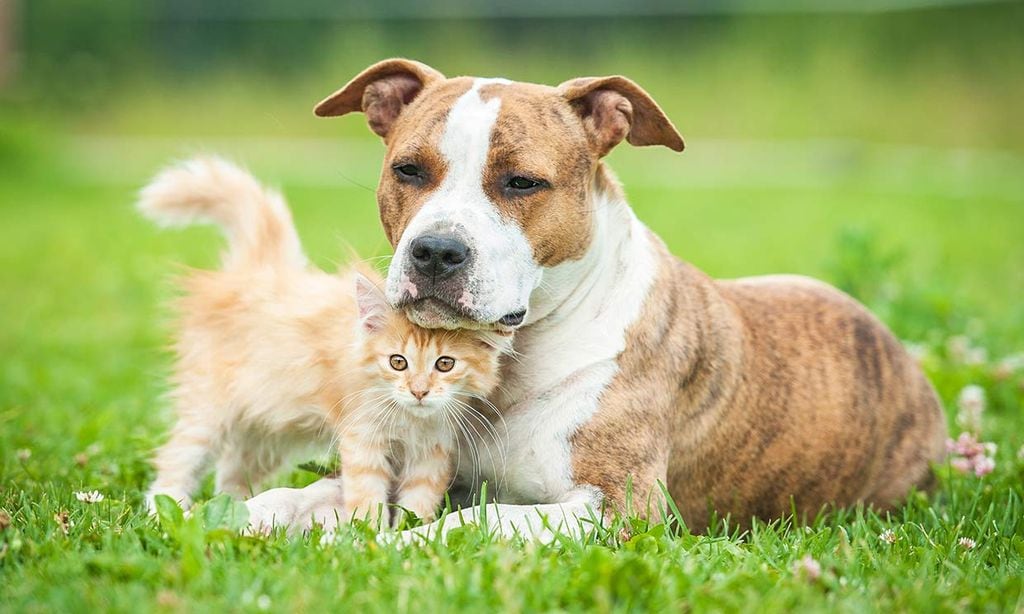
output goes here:
<path id="1" fill-rule="evenodd" d="M 496 399 L 504 419 L 495 425 L 499 436 L 478 438 L 479 473 L 497 485 L 500 501 L 558 501 L 577 486 L 571 437 L 618 372 L 626 331 L 656 270 L 643 227 L 629 210 L 620 213 L 628 239 L 597 242 L 583 261 L 546 271 L 553 286 L 580 288 L 584 278 L 593 290 L 565 297 L 567 315 L 548 316 L 515 341 L 517 356 Z M 603 215 L 598 220 L 599 230 L 612 225 Z M 463 480 L 472 480 L 470 473 L 460 469 Z"/>

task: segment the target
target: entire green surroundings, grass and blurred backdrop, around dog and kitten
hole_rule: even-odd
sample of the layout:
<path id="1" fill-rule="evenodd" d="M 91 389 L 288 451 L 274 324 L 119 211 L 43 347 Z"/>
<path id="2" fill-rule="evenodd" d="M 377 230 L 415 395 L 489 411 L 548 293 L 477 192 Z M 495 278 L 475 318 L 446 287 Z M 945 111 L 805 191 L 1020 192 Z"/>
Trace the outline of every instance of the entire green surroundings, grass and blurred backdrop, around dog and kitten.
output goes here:
<path id="1" fill-rule="evenodd" d="M 951 433 L 965 386 L 983 387 L 996 471 L 943 472 L 891 523 L 857 511 L 643 555 L 157 530 L 139 503 L 169 418 L 169 281 L 180 263 L 214 266 L 222 242 L 154 228 L 136 192 L 175 159 L 220 152 L 284 189 L 315 262 L 345 244 L 387 254 L 381 143 L 361 117 L 311 108 L 395 55 L 447 75 L 633 78 L 687 142 L 610 156 L 639 216 L 712 275 L 807 273 L 864 301 L 908 342 Z M 1022 102 L 1019 2 L 0 0 L 0 611 L 611 609 L 616 595 L 652 610 L 1019 610 Z M 74 497 L 92 489 L 102 503 Z M 831 583 L 793 577 L 810 554 Z"/>

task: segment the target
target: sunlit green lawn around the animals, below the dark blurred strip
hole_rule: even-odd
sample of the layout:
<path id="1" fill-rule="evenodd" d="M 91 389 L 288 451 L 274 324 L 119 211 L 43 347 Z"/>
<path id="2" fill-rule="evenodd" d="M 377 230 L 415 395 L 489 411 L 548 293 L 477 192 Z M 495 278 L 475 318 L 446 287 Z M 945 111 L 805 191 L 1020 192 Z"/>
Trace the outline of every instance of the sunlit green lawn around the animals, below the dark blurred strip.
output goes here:
<path id="1" fill-rule="evenodd" d="M 1020 14 L 999 10 L 1000 28 Z M 935 492 L 891 514 L 830 511 L 746 533 L 621 519 L 628 539 L 551 545 L 477 530 L 403 550 L 364 527 L 333 540 L 243 536 L 209 484 L 188 520 L 148 518 L 148 453 L 169 420 L 170 280 L 181 264 L 215 265 L 221 242 L 209 228 L 155 229 L 134 193 L 172 159 L 224 152 L 284 189 L 308 253 L 332 267 L 348 245 L 387 254 L 373 194 L 383 148 L 359 118 L 309 118 L 338 85 L 323 72 L 140 80 L 67 117 L 56 103 L 0 104 L 0 611 L 1022 611 L 1024 82 L 1000 77 L 1020 74 L 1019 41 L 986 38 L 982 17 L 943 17 L 966 42 L 948 53 L 931 52 L 945 36 L 907 43 L 918 59 L 903 72 L 874 70 L 854 43 L 801 64 L 782 34 L 731 55 L 695 51 L 688 79 L 665 77 L 672 56 L 618 59 L 615 47 L 607 65 L 580 70 L 545 63 L 543 49 L 521 63 L 447 55 L 453 73 L 637 77 L 666 100 L 687 151 L 622 147 L 610 163 L 673 252 L 715 276 L 798 272 L 850 292 L 919 357 L 950 433 L 995 444 L 975 458 L 994 462 L 990 473 L 943 465 Z M 902 32 L 829 24 L 800 44 Z M 374 58 L 423 51 L 357 42 Z M 315 477 L 296 468 L 278 481 Z"/>

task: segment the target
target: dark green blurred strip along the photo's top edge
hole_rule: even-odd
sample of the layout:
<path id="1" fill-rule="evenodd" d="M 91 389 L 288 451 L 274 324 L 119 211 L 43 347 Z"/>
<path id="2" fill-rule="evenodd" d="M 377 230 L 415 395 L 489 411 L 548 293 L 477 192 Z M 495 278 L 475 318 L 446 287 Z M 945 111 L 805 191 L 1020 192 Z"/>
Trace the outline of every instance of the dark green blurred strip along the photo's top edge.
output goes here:
<path id="1" fill-rule="evenodd" d="M 802 6 L 727 2 L 716 12 L 717 4 L 708 2 L 648 1 L 616 9 L 608 3 L 588 8 L 549 1 L 488 11 L 482 9 L 488 4 L 468 0 L 32 0 L 22 5 L 19 38 L 23 78 L 56 100 L 79 102 L 152 71 L 194 73 L 228 64 L 302 73 L 333 63 L 332 55 L 339 52 L 364 61 L 362 56 L 376 57 L 395 47 L 423 53 L 443 49 L 454 58 L 482 54 L 504 65 L 514 65 L 520 52 L 531 49 L 543 50 L 559 64 L 586 63 L 629 49 L 644 61 L 671 65 L 689 61 L 691 54 L 738 45 L 775 56 L 780 70 L 800 71 L 824 49 L 847 45 L 856 47 L 858 57 L 873 70 L 895 76 L 902 67 L 936 55 L 979 72 L 1005 70 L 1006 62 L 1024 59 L 1024 3 L 868 13 L 765 12 L 795 4 Z M 583 16 L 571 16 L 574 12 Z M 553 16 L 528 16 L 540 14 Z M 993 61 L 999 58 L 1001 62 Z"/>

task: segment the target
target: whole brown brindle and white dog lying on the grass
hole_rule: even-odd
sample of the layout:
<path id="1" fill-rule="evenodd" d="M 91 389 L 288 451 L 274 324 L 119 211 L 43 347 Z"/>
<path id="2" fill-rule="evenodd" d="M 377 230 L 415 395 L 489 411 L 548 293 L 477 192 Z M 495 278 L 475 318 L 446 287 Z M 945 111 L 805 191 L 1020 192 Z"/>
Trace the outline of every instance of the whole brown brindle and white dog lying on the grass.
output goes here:
<path id="1" fill-rule="evenodd" d="M 664 483 L 697 531 L 710 510 L 746 523 L 884 508 L 929 485 L 945 420 L 882 322 L 804 277 L 713 280 L 637 220 L 601 159 L 624 139 L 683 139 L 632 81 L 446 79 L 390 59 L 315 108 L 353 112 L 387 145 L 389 300 L 425 326 L 517 331 L 492 399 L 502 436 L 475 442 L 504 471 L 465 476 L 497 486 L 492 527 L 572 531 L 625 510 L 628 484 L 645 514 Z M 248 506 L 256 525 L 301 527 L 332 523 L 342 499 L 327 478 Z"/>

